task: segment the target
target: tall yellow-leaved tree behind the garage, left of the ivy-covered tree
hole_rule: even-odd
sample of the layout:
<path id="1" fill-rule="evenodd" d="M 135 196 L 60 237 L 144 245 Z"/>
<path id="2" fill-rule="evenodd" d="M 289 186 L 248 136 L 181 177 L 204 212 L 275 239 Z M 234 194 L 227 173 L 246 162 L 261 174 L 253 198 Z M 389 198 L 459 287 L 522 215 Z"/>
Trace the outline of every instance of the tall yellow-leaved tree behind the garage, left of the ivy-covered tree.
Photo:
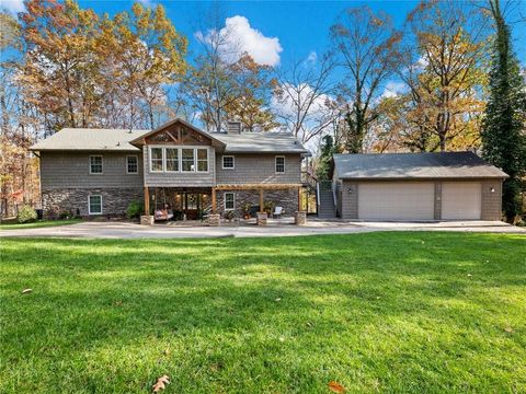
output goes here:
<path id="1" fill-rule="evenodd" d="M 425 151 L 477 148 L 485 85 L 481 13 L 464 3 L 423 1 L 407 25 L 410 44 L 398 72 L 410 90 L 413 140 L 407 142 Z"/>

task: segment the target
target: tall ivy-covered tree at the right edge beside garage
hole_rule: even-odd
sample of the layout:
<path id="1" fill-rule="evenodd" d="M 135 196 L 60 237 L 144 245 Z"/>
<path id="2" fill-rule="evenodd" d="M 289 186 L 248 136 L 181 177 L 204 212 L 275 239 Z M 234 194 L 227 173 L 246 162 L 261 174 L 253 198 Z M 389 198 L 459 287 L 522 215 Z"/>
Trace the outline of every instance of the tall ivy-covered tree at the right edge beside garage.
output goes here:
<path id="1" fill-rule="evenodd" d="M 490 99 L 482 127 L 482 154 L 510 175 L 503 184 L 508 222 L 521 212 L 521 178 L 526 173 L 526 86 L 515 57 L 510 26 L 499 0 L 489 1 L 495 26 L 490 71 Z"/>

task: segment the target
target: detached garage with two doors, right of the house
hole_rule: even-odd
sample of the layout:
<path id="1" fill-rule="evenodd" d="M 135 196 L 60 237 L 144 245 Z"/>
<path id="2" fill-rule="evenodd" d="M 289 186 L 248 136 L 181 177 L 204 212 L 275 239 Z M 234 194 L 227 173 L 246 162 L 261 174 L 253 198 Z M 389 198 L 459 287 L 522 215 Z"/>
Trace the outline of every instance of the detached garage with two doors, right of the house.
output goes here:
<path id="1" fill-rule="evenodd" d="M 505 177 L 471 152 L 336 154 L 336 213 L 359 220 L 501 220 Z"/>

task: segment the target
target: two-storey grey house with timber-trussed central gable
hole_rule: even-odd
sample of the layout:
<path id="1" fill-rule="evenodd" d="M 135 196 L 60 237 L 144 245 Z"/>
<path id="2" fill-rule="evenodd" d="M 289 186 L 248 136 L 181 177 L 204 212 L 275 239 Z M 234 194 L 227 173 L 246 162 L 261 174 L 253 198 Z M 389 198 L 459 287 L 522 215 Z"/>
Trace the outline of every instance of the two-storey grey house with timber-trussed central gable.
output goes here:
<path id="1" fill-rule="evenodd" d="M 45 212 L 123 216 L 137 200 L 188 219 L 206 210 L 240 216 L 267 200 L 294 215 L 308 154 L 291 134 L 242 132 L 239 123 L 205 132 L 182 119 L 151 131 L 66 128 L 32 150 Z"/>

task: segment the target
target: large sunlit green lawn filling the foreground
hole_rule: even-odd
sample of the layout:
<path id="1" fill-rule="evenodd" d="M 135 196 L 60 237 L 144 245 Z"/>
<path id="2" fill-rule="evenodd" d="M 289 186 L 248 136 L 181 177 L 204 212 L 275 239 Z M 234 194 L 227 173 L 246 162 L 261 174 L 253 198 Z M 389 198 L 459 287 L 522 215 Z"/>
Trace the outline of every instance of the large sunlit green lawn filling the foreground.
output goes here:
<path id="1" fill-rule="evenodd" d="M 3 239 L 0 392 L 526 392 L 526 237 Z M 22 294 L 31 288 L 32 292 Z"/>

